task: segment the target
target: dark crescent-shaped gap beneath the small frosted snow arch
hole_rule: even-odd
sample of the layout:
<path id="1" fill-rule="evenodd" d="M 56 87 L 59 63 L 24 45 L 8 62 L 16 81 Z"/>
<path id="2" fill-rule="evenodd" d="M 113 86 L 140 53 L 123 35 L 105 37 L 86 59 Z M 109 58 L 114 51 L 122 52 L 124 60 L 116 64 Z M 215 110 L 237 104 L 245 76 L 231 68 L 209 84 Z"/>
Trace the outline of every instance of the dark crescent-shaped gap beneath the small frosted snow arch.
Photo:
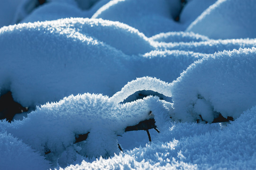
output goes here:
<path id="1" fill-rule="evenodd" d="M 120 102 L 120 103 L 133 102 L 138 99 L 143 99 L 144 97 L 149 95 L 158 96 L 160 100 L 172 102 L 172 97 L 167 97 L 164 94 L 161 94 L 152 90 L 141 90 L 129 95 L 123 102 Z"/>

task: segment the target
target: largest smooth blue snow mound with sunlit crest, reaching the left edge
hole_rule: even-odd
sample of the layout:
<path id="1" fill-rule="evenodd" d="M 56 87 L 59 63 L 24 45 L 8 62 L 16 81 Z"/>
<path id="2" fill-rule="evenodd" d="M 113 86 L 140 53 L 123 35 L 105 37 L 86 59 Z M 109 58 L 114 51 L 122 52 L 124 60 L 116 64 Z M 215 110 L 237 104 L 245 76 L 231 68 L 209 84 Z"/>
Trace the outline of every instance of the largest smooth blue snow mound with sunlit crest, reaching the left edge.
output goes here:
<path id="1" fill-rule="evenodd" d="M 132 27 L 102 19 L 3 27 L 0 87 L 10 90 L 24 107 L 85 92 L 111 96 L 136 77 L 155 76 L 171 82 L 205 56 L 158 51 L 155 43 Z"/>

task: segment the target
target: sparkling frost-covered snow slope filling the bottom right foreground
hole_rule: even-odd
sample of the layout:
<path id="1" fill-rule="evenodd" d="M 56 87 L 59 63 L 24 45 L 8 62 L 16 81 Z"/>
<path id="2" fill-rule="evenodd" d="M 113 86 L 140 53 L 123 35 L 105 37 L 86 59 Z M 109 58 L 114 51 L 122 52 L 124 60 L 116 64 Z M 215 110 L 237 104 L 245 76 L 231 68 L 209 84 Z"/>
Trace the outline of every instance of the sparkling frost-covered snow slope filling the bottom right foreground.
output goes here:
<path id="1" fill-rule="evenodd" d="M 109 159 L 82 161 L 65 170 L 255 169 L 255 121 L 256 107 L 227 125 L 169 122 L 151 144 Z"/>

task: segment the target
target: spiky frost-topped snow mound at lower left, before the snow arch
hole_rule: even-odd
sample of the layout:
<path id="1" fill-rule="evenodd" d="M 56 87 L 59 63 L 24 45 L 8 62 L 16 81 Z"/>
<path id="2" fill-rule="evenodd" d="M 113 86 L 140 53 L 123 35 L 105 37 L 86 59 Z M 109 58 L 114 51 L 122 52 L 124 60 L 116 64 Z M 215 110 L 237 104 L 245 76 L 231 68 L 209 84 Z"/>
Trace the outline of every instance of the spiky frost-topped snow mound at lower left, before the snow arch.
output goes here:
<path id="1" fill-rule="evenodd" d="M 22 121 L 0 124 L 8 133 L 45 155 L 54 166 L 61 162 L 64 162 L 61 166 L 67 166 L 81 156 L 108 157 L 118 153 L 117 134 L 152 118 L 150 110 L 155 118 L 158 115 L 161 127 L 160 121 L 168 118 L 164 104 L 153 96 L 118 104 L 107 96 L 84 93 L 37 107 Z M 88 132 L 86 141 L 74 144 L 77 136 Z"/>

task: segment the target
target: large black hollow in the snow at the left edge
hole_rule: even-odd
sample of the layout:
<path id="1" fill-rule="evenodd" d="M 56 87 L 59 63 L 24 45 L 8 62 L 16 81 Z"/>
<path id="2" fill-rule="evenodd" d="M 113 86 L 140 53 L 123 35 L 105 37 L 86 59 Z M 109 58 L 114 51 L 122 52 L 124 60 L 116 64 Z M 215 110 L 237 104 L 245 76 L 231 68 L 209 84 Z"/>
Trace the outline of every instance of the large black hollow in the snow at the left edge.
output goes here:
<path id="1" fill-rule="evenodd" d="M 0 96 L 0 119 L 6 119 L 11 122 L 17 113 L 27 111 L 27 107 L 23 107 L 21 104 L 14 101 L 11 91 L 7 91 Z"/>

